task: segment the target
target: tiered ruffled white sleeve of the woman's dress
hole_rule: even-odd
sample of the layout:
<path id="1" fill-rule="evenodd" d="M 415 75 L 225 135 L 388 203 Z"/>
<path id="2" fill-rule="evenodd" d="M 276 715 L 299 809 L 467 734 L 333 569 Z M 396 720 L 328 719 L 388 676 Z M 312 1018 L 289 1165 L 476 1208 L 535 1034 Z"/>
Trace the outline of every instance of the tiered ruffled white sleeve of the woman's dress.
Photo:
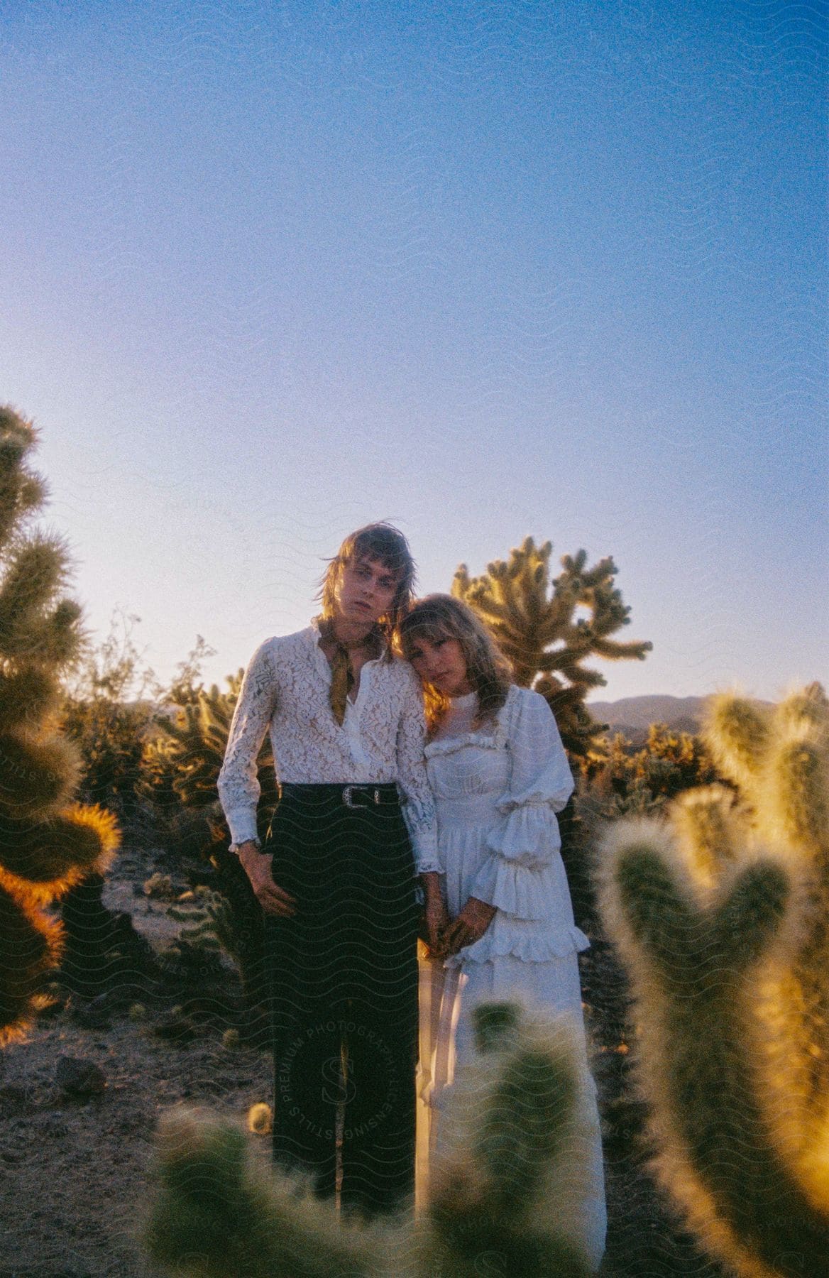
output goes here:
<path id="1" fill-rule="evenodd" d="M 539 693 L 511 689 L 503 713 L 510 787 L 497 803 L 501 819 L 487 836 L 491 856 L 471 896 L 519 919 L 549 918 L 549 870 L 561 860 L 556 813 L 572 794 L 572 773 L 553 713 Z"/>

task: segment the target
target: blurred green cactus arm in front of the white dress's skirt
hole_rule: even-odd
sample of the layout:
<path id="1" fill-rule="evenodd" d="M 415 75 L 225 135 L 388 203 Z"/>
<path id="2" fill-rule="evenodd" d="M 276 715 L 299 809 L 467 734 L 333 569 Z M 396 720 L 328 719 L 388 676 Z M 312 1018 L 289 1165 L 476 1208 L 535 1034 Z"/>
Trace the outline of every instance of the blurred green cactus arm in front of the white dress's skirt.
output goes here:
<path id="1" fill-rule="evenodd" d="M 455 1085 L 432 1177 L 429 1247 L 419 1273 L 582 1278 L 590 1141 L 563 1022 L 513 1005 L 478 1012 L 484 1054 Z M 553 1206 L 554 1205 L 554 1206 Z M 558 1209 L 558 1210 L 557 1210 Z"/>

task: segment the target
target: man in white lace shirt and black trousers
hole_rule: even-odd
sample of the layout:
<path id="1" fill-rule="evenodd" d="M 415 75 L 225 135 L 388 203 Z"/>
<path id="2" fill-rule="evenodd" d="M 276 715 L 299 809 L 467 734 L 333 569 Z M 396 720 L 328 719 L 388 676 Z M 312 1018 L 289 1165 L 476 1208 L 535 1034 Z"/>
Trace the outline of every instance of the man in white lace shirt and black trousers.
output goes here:
<path id="1" fill-rule="evenodd" d="M 369 524 L 345 539 L 322 616 L 254 653 L 218 778 L 231 850 L 264 911 L 275 1158 L 333 1195 L 344 1102 L 341 1204 L 367 1215 L 413 1194 L 414 870 L 433 891 L 439 868 L 420 684 L 390 651 L 413 581 L 396 528 Z M 281 797 L 261 847 L 266 731 Z"/>

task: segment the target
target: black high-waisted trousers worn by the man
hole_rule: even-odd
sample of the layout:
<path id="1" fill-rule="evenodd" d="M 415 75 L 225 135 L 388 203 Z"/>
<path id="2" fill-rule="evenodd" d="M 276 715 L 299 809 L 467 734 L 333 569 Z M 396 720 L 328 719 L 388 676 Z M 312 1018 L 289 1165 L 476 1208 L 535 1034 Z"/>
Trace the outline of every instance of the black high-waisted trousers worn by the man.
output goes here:
<path id="1" fill-rule="evenodd" d="M 266 919 L 273 1157 L 330 1196 L 340 1143 L 341 1204 L 370 1215 L 414 1194 L 418 906 L 396 789 L 355 786 L 358 806 L 342 791 L 284 786 L 271 827 L 273 879 L 298 902 Z"/>

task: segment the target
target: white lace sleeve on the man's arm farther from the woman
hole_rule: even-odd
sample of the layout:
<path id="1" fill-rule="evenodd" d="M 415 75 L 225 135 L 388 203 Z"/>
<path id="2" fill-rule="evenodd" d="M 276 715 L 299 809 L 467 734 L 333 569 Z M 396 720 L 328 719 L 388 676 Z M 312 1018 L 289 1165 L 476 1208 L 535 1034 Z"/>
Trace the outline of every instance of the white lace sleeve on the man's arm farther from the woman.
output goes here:
<path id="1" fill-rule="evenodd" d="M 277 693 L 271 644 L 272 640 L 266 640 L 250 658 L 230 725 L 225 762 L 218 773 L 218 799 L 235 843 L 255 838 L 257 835 L 261 790 L 257 758 L 273 714 Z"/>

